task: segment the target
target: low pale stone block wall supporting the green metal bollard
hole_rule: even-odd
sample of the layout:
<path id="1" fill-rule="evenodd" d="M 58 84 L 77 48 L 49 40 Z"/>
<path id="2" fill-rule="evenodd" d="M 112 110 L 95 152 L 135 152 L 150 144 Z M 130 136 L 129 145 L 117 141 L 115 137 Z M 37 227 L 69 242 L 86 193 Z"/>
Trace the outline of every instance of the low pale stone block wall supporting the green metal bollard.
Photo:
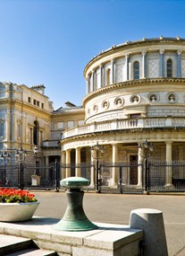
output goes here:
<path id="1" fill-rule="evenodd" d="M 58 219 L 36 217 L 19 224 L 0 223 L 0 234 L 32 239 L 41 249 L 60 256 L 139 256 L 143 231 L 128 225 L 96 223 L 97 229 L 85 232 L 56 231 Z"/>

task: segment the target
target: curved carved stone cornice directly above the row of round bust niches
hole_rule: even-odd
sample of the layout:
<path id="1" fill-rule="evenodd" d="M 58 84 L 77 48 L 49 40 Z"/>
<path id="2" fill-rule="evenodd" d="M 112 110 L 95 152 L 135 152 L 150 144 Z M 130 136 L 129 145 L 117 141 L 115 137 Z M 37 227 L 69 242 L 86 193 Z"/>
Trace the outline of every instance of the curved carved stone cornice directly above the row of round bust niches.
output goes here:
<path id="1" fill-rule="evenodd" d="M 105 92 L 111 92 L 114 90 L 118 90 L 123 87 L 129 87 L 132 85 L 138 85 L 138 84 L 185 84 L 185 78 L 167 78 L 167 77 L 158 77 L 158 78 L 144 78 L 139 80 L 130 80 L 125 81 L 117 84 L 111 84 L 102 88 L 97 89 L 97 91 L 88 93 L 88 95 L 83 99 L 82 106 L 85 108 L 86 102 L 91 100 L 92 98 L 96 97 L 99 94 L 105 93 Z"/>

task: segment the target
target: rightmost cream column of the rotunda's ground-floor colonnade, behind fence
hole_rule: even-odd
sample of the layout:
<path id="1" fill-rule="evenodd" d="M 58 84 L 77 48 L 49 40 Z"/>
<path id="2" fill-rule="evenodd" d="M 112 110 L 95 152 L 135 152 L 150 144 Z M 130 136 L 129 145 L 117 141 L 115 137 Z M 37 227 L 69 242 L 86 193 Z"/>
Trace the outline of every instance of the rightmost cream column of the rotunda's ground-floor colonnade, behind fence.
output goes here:
<path id="1" fill-rule="evenodd" d="M 172 186 L 172 141 L 166 142 L 166 166 L 165 170 L 165 187 Z"/>

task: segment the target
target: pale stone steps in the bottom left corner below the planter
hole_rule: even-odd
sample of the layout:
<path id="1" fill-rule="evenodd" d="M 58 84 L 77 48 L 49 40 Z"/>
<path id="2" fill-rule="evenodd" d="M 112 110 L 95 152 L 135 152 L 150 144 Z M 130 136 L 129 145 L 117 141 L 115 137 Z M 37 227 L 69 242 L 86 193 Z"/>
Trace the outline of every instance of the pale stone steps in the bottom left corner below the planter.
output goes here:
<path id="1" fill-rule="evenodd" d="M 38 249 L 31 239 L 0 234 L 0 256 L 54 256 L 55 252 Z"/>

